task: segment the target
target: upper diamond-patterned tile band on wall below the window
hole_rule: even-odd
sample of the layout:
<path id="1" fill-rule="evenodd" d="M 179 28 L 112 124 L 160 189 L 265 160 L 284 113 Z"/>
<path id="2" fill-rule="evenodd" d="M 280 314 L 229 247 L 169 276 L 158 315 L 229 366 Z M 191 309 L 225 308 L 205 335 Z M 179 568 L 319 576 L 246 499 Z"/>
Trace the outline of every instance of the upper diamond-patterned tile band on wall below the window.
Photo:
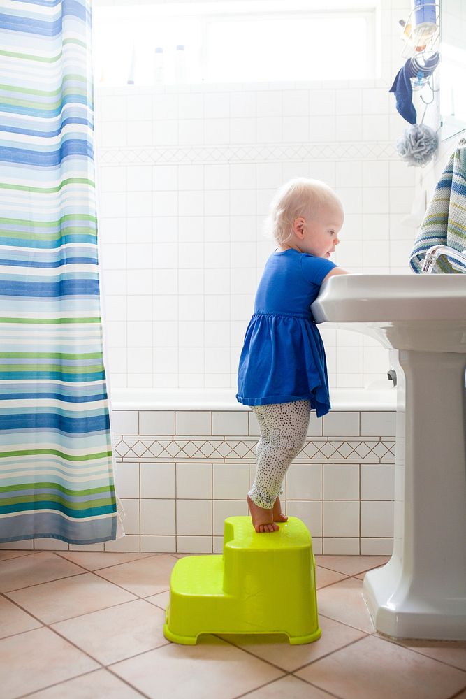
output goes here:
<path id="1" fill-rule="evenodd" d="M 186 145 L 154 147 L 99 147 L 99 165 L 185 165 L 187 163 L 263 163 L 316 160 L 397 160 L 391 141 L 349 143 L 264 143 L 263 145 Z"/>

